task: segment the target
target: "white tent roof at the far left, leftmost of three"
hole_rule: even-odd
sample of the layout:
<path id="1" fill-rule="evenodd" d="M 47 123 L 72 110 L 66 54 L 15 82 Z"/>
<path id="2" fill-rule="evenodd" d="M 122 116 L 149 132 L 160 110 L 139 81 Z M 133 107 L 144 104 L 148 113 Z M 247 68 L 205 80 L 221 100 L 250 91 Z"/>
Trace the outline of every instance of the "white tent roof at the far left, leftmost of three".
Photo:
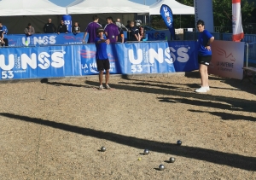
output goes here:
<path id="1" fill-rule="evenodd" d="M 48 0 L 1 0 L 0 16 L 15 15 L 66 15 L 65 7 Z"/>

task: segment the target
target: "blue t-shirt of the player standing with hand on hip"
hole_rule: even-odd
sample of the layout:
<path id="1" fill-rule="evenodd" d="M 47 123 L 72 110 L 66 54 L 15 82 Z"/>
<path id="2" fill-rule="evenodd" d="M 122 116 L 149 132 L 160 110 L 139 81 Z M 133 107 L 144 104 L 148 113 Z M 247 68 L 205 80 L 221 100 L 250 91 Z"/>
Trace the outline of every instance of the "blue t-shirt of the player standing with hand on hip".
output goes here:
<path id="1" fill-rule="evenodd" d="M 201 56 L 212 55 L 212 49 L 211 50 L 206 49 L 207 43 L 210 38 L 212 38 L 212 34 L 207 30 L 204 30 L 203 32 L 199 33 L 198 42 L 197 42 L 198 55 L 201 55 Z"/>

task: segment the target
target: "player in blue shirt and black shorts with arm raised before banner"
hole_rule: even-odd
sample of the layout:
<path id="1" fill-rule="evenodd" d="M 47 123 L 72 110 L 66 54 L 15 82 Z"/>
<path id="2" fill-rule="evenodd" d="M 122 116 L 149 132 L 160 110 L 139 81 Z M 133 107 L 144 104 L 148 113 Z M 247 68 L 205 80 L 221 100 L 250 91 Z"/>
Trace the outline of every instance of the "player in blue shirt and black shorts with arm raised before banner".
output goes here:
<path id="1" fill-rule="evenodd" d="M 109 39 L 104 38 L 104 29 L 102 27 L 99 27 L 97 29 L 97 37 L 95 39 L 95 44 L 96 44 L 96 64 L 97 64 L 97 69 L 99 74 L 99 81 L 100 81 L 100 87 L 99 90 L 103 90 L 103 73 L 104 69 L 106 70 L 106 88 L 109 90 L 110 87 L 108 85 L 108 80 L 109 80 L 109 69 L 110 69 L 110 64 L 108 60 L 108 53 L 107 53 L 107 44 L 110 43 Z"/>

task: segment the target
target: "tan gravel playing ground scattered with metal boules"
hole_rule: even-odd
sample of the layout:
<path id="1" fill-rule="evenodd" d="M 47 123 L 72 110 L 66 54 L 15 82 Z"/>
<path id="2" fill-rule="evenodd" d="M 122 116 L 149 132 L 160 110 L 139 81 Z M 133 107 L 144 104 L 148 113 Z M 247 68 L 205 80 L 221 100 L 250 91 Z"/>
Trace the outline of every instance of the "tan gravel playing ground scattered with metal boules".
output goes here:
<path id="1" fill-rule="evenodd" d="M 0 179 L 256 179 L 255 84 L 211 76 L 196 94 L 198 73 L 110 81 L 0 84 Z"/>

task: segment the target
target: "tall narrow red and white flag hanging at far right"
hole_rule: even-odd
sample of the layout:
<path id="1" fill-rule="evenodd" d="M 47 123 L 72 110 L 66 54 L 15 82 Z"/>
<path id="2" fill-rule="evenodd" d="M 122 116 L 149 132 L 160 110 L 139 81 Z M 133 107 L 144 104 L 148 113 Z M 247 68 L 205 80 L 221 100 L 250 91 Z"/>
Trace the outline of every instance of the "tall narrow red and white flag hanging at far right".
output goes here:
<path id="1" fill-rule="evenodd" d="M 241 25 L 241 0 L 232 0 L 232 25 L 233 25 L 233 41 L 240 42 L 244 38 Z"/>

